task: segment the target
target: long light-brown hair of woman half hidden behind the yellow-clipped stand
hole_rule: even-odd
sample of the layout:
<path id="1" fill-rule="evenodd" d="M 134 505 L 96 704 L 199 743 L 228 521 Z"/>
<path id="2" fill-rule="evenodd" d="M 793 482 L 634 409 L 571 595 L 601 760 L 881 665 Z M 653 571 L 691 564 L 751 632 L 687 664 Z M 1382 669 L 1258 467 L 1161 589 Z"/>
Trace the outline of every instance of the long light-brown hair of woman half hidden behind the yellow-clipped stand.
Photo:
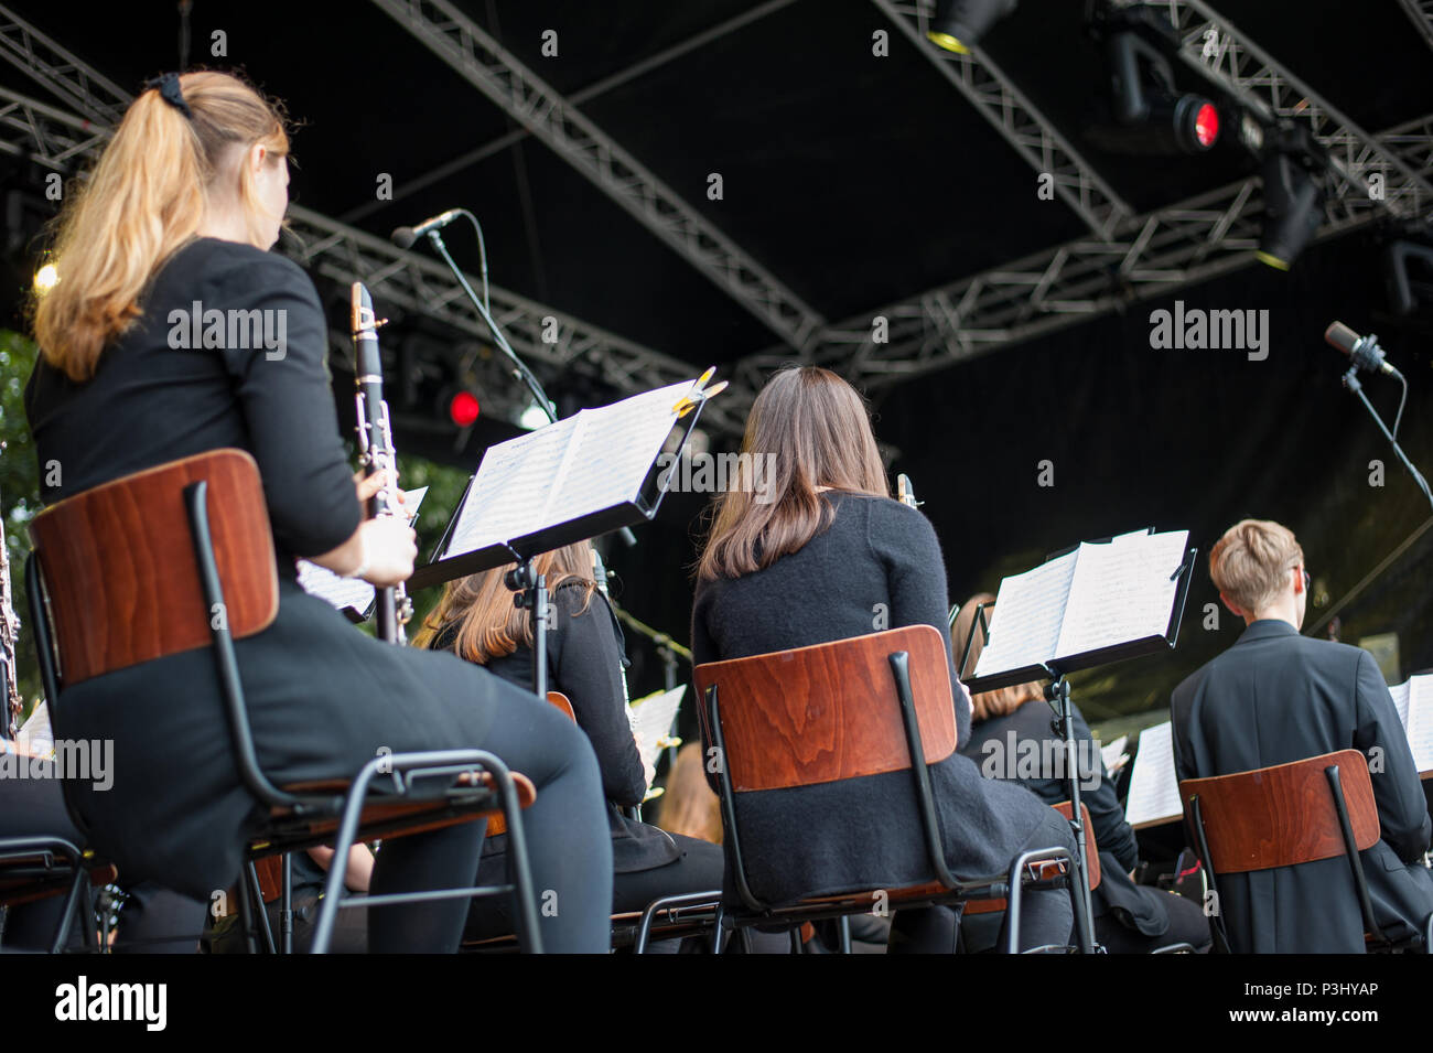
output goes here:
<path id="1" fill-rule="evenodd" d="M 592 577 L 590 542 L 543 553 L 533 560 L 533 566 L 547 577 L 547 589 L 553 593 L 565 582 L 582 583 L 579 615 L 592 603 L 592 592 L 598 583 Z M 459 658 L 479 665 L 512 655 L 519 643 L 532 646 L 533 630 L 527 610 L 513 605 L 513 592 L 503 583 L 503 574 L 512 569 L 513 564 L 509 564 L 444 585 L 441 599 L 423 619 L 423 629 L 413 639 L 413 646 L 431 646 L 450 626 L 457 626 L 453 650 Z"/>

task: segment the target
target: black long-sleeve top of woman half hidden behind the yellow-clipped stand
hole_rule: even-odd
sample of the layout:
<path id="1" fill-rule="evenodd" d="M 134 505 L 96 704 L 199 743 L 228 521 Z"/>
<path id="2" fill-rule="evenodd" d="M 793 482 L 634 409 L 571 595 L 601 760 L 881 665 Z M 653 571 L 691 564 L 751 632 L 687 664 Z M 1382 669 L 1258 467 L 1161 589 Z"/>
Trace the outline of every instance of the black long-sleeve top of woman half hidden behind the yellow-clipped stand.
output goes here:
<path id="1" fill-rule="evenodd" d="M 620 812 L 620 808 L 642 802 L 646 774 L 626 715 L 616 617 L 600 593 L 593 593 L 588 609 L 582 610 L 583 592 L 580 582 L 566 582 L 555 590 L 552 603 L 557 619 L 556 628 L 547 630 L 547 689 L 567 696 L 577 726 L 588 734 L 598 756 L 602 792 L 608 798 L 613 871 L 651 870 L 671 862 L 681 851 L 663 831 Z M 437 633 L 433 648 L 451 650 L 456 643 L 457 625 L 453 623 Z M 533 653 L 526 643 L 519 643 L 510 655 L 490 659 L 486 668 L 532 691 Z M 483 852 L 504 847 L 506 838 L 487 838 Z"/>

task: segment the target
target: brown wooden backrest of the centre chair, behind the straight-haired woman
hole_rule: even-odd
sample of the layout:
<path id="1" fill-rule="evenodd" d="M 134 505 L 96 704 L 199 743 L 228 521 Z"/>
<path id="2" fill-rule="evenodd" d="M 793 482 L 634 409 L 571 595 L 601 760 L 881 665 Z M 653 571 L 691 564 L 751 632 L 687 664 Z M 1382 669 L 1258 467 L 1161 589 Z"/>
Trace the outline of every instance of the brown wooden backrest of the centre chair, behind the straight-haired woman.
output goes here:
<path id="1" fill-rule="evenodd" d="M 716 685 L 727 769 L 738 794 L 835 782 L 910 768 L 890 656 L 910 655 L 926 764 L 956 749 L 946 643 L 914 625 L 696 666 L 704 731 Z M 708 736 L 708 741 L 709 736 Z"/>

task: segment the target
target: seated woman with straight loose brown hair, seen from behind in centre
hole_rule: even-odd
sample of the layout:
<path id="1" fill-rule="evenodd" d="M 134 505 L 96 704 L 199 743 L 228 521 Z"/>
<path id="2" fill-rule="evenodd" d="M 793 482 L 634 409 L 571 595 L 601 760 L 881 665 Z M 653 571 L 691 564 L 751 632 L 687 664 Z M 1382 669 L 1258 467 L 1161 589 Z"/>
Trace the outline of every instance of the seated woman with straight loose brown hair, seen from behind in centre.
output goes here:
<path id="1" fill-rule="evenodd" d="M 742 453 L 770 457 L 759 494 L 716 499 L 698 564 L 694 662 L 764 655 L 930 625 L 946 650 L 946 569 L 930 521 L 890 497 L 866 405 L 828 370 L 777 372 L 757 397 Z M 767 461 L 762 461 L 767 463 Z M 888 617 L 888 623 L 884 620 Z M 954 670 L 952 669 L 953 683 Z M 956 689 L 960 741 L 969 695 Z M 930 766 L 946 857 L 957 877 L 1003 872 L 1027 848 L 1073 847 L 1059 814 L 1012 782 L 980 778 L 959 752 Z M 742 795 L 742 855 L 768 903 L 931 881 L 910 772 Z M 757 832 L 764 832 L 764 837 Z M 1069 941 L 1066 890 L 1035 893 L 1026 947 Z M 897 911 L 890 950 L 950 953 L 957 914 Z"/>

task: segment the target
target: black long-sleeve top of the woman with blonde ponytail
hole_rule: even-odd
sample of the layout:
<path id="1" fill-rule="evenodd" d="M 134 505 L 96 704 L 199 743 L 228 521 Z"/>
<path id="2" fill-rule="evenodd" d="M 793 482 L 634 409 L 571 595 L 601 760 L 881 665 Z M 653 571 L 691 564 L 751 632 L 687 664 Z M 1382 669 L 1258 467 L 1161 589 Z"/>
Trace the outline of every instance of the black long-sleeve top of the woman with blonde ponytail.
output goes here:
<path id="1" fill-rule="evenodd" d="M 348 540 L 363 510 L 334 411 L 328 327 L 308 275 L 252 245 L 196 238 L 142 299 L 146 309 L 125 334 L 123 352 L 100 355 L 92 381 L 75 384 L 43 360 L 30 374 L 26 413 L 42 454 L 40 497 L 53 503 L 155 464 L 239 447 L 264 479 L 281 574 L 295 576 L 294 556 Z M 224 319 L 221 347 L 203 345 L 208 311 Z M 278 347 L 229 340 L 231 321 L 254 317 L 282 335 Z"/>

